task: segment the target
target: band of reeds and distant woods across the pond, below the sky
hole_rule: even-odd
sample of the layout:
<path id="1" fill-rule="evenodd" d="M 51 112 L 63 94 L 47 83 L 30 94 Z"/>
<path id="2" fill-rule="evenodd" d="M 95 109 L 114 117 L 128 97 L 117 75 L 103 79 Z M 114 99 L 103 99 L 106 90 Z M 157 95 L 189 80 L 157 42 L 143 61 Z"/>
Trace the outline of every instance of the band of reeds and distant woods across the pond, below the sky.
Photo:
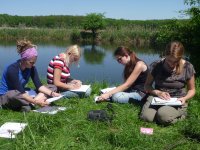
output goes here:
<path id="1" fill-rule="evenodd" d="M 102 14 L 92 14 L 104 21 L 102 28 L 86 30 L 87 16 L 11 16 L 0 14 L 0 40 L 15 41 L 27 38 L 33 41 L 71 41 L 120 44 L 135 47 L 151 47 L 164 43 L 159 39 L 163 26 L 188 20 L 124 20 L 104 18 Z M 89 18 L 90 19 L 90 18 Z M 102 19 L 102 20 L 101 20 Z M 92 26 L 95 26 L 92 24 Z M 90 28 L 89 28 L 90 29 Z M 162 38 L 162 37 L 161 37 Z"/>

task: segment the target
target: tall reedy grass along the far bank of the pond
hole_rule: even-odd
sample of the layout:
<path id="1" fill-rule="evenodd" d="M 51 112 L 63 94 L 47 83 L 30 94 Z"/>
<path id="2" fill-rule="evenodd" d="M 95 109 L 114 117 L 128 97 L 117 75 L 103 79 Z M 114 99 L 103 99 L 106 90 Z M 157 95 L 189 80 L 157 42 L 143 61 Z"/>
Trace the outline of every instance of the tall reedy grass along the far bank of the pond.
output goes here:
<path id="1" fill-rule="evenodd" d="M 99 31 L 97 43 L 133 45 L 136 47 L 150 46 L 151 36 L 159 29 L 137 26 L 134 28 L 123 27 L 121 29 L 106 28 Z M 81 29 L 76 28 L 0 28 L 1 41 L 16 41 L 18 39 L 30 39 L 33 41 L 63 41 L 63 42 L 92 42 L 92 34 L 84 36 Z"/>

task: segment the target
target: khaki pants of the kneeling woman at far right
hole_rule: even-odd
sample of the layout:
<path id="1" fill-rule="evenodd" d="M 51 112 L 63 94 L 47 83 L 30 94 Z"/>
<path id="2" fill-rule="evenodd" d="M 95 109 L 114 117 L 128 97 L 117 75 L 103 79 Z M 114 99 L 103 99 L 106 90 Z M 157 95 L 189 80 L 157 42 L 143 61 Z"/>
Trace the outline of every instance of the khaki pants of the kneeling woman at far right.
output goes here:
<path id="1" fill-rule="evenodd" d="M 148 122 L 157 122 L 168 125 L 183 119 L 186 116 L 187 104 L 183 106 L 153 106 L 151 101 L 153 96 L 147 98 L 147 102 L 142 108 L 140 118 Z"/>

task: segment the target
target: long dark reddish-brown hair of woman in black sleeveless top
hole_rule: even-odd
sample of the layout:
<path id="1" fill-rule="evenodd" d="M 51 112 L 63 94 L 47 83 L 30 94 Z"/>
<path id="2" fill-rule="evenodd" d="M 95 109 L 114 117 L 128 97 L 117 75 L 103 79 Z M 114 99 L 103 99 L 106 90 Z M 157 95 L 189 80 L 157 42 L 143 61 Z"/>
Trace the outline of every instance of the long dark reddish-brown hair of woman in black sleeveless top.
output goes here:
<path id="1" fill-rule="evenodd" d="M 139 58 L 137 58 L 135 52 L 131 51 L 128 47 L 120 46 L 118 47 L 115 52 L 114 56 L 130 56 L 130 62 L 126 64 L 124 68 L 124 79 L 126 80 L 130 74 L 132 73 L 133 69 L 135 68 L 135 65 L 138 61 L 140 61 Z"/>

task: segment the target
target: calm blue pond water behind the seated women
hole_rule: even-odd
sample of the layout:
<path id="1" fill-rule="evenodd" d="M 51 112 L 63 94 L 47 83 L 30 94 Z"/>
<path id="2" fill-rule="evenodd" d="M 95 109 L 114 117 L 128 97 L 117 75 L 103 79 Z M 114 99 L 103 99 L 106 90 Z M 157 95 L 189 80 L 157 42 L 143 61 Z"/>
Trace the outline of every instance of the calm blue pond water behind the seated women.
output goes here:
<path id="1" fill-rule="evenodd" d="M 41 79 L 46 80 L 46 70 L 49 61 L 57 54 L 65 51 L 69 45 L 37 44 L 38 59 L 36 67 Z M 83 82 L 107 82 L 116 84 L 123 82 L 123 66 L 113 57 L 113 52 L 117 46 L 104 47 L 95 45 L 82 45 L 82 56 L 79 62 L 80 67 L 71 66 L 71 77 Z M 150 64 L 159 59 L 159 54 L 154 50 L 137 50 L 137 56 Z M 20 56 L 16 52 L 16 45 L 0 45 L 0 74 L 6 65 L 15 62 Z"/>

